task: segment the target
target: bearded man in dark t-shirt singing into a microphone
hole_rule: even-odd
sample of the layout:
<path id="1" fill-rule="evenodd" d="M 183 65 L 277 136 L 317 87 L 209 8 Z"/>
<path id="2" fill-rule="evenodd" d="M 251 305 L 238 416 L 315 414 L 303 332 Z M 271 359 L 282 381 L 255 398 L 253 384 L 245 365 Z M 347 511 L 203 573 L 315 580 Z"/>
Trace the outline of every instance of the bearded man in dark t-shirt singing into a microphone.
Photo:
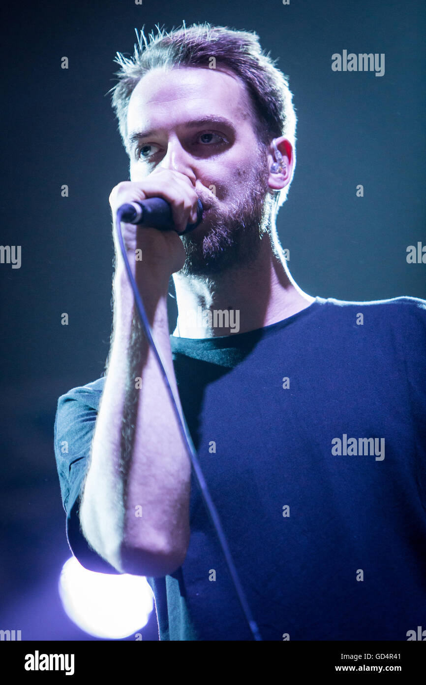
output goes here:
<path id="1" fill-rule="evenodd" d="M 118 57 L 131 180 L 111 210 L 172 208 L 176 231 L 124 224 L 124 242 L 261 636 L 405 640 L 425 621 L 426 302 L 302 292 L 275 227 L 287 79 L 256 34 L 150 39 Z M 148 577 L 161 640 L 252 638 L 117 245 L 105 377 L 59 398 L 55 452 L 73 553 Z"/>

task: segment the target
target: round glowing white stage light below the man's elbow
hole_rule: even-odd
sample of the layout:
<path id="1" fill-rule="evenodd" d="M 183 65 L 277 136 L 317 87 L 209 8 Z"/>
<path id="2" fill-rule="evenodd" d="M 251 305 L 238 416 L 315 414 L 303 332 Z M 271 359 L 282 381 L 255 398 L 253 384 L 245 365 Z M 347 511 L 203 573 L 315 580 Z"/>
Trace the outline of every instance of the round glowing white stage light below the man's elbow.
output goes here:
<path id="1" fill-rule="evenodd" d="M 125 638 L 148 623 L 152 590 L 142 575 L 109 575 L 68 559 L 59 578 L 64 610 L 81 630 L 99 638 Z"/>

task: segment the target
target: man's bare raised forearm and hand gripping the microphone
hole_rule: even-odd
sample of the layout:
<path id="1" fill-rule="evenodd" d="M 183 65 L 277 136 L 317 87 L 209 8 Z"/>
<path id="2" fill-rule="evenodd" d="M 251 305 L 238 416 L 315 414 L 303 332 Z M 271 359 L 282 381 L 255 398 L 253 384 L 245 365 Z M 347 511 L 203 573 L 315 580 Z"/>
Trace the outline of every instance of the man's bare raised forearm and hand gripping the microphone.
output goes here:
<path id="1" fill-rule="evenodd" d="M 172 175 L 175 184 L 170 179 L 166 184 L 164 175 Z M 182 174 L 163 171 L 157 177 L 157 191 L 146 182 L 117 186 L 110 197 L 113 213 L 131 199 L 162 195 L 172 205 L 176 225 L 183 229 L 187 221 L 195 221 L 196 192 Z M 165 187 L 168 197 L 158 191 Z M 129 262 L 178 397 L 167 295 L 170 274 L 183 265 L 185 250 L 174 232 L 127 224 L 124 229 Z M 137 248 L 142 249 L 142 262 L 135 262 Z M 157 360 L 137 319 L 117 247 L 116 252 L 114 334 L 80 521 L 90 545 L 118 571 L 158 577 L 176 571 L 187 553 L 191 462 Z"/>

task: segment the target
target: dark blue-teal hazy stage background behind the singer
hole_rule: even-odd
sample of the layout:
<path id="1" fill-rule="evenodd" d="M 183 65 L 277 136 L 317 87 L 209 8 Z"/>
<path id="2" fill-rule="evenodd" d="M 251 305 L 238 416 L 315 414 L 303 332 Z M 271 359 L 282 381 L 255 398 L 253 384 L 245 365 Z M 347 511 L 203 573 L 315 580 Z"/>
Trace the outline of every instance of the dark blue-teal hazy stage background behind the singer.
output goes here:
<path id="1" fill-rule="evenodd" d="M 3 10 L 0 244 L 21 245 L 22 265 L 0 264 L 0 628 L 22 630 L 23 640 L 96 639 L 67 618 L 57 595 L 70 551 L 53 422 L 57 397 L 101 376 L 109 348 L 108 197 L 129 178 L 106 95 L 114 55 L 133 52 L 135 28 L 170 30 L 183 20 L 256 31 L 289 75 L 297 168 L 278 227 L 297 284 L 338 299 L 426 299 L 426 266 L 405 259 L 408 245 L 426 242 L 421 0 L 103 0 Z M 384 76 L 333 72 L 331 56 L 343 49 L 385 53 Z M 154 617 L 142 634 L 157 639 Z"/>

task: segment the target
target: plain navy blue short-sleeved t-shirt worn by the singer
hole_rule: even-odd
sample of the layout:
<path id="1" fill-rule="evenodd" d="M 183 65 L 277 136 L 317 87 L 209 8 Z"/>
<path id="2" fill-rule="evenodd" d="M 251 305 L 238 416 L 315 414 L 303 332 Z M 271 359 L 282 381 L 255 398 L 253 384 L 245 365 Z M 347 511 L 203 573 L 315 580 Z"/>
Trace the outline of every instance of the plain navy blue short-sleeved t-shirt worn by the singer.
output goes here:
<path id="1" fill-rule="evenodd" d="M 263 640 L 406 640 L 426 627 L 426 301 L 317 297 L 256 331 L 170 340 Z M 78 518 L 104 382 L 59 397 L 55 454 L 72 552 L 117 573 Z M 181 568 L 148 578 L 160 639 L 252 639 L 194 475 L 190 527 Z"/>

